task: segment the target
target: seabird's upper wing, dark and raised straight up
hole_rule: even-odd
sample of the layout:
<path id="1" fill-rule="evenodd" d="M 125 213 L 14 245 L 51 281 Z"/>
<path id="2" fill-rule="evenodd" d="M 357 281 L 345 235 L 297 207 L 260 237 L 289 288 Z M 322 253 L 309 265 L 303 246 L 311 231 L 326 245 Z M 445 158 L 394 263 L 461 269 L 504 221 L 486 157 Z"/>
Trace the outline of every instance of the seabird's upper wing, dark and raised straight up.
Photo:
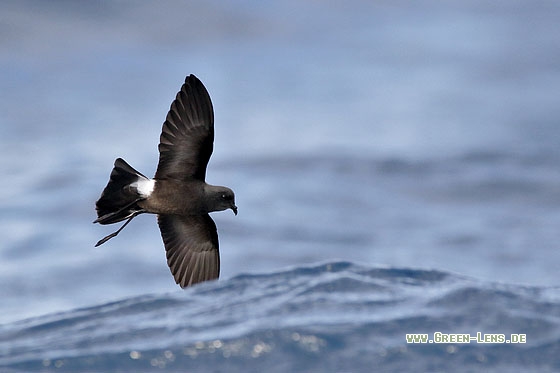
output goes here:
<path id="1" fill-rule="evenodd" d="M 204 181 L 214 147 L 214 110 L 194 75 L 185 79 L 163 123 L 156 179 Z"/>

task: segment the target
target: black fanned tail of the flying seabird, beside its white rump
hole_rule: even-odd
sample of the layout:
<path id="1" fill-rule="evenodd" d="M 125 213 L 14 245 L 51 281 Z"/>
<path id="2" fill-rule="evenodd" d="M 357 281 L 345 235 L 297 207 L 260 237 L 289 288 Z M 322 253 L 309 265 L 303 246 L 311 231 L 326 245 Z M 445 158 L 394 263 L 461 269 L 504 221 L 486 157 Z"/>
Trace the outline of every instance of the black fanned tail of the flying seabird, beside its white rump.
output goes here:
<path id="1" fill-rule="evenodd" d="M 149 181 L 124 159 L 117 158 L 109 183 L 95 203 L 97 219 L 94 223 L 113 224 L 141 213 L 142 208 L 137 203 L 146 195 L 138 191 L 138 185 Z"/>

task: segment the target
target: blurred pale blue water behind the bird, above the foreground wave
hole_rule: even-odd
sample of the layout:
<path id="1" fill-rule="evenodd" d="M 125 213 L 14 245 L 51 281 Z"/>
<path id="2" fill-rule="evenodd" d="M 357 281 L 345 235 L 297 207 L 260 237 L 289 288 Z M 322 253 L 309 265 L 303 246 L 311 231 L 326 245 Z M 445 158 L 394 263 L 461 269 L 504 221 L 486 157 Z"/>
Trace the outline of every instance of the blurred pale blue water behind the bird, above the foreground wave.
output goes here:
<path id="1" fill-rule="evenodd" d="M 558 285 L 560 4 L 4 1 L 0 323 L 179 292 L 155 217 L 93 225 L 115 158 L 155 172 L 185 76 L 215 110 L 222 281 L 310 263 Z"/>

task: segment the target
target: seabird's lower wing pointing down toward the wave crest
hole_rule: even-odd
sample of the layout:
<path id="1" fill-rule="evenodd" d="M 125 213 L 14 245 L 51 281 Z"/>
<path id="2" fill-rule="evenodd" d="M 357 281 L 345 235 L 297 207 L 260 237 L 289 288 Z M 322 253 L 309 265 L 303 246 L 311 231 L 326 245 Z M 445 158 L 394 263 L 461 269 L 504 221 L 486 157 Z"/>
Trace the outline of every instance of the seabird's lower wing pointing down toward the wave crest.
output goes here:
<path id="1" fill-rule="evenodd" d="M 182 288 L 220 275 L 216 224 L 208 214 L 158 215 L 167 264 Z"/>

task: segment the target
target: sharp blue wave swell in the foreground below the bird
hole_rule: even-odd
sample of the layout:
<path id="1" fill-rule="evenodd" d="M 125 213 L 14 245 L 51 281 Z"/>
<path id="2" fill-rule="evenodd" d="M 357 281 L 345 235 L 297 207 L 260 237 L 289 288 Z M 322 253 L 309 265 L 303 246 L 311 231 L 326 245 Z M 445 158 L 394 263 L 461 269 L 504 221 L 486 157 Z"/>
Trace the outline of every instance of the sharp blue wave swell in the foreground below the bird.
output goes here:
<path id="1" fill-rule="evenodd" d="M 8 372 L 554 372 L 559 330 L 558 288 L 332 262 L 4 325 L 0 364 Z M 407 343 L 411 333 L 434 343 Z M 478 342 L 435 343 L 447 333 Z M 526 339 L 480 342 L 490 335 Z"/>

